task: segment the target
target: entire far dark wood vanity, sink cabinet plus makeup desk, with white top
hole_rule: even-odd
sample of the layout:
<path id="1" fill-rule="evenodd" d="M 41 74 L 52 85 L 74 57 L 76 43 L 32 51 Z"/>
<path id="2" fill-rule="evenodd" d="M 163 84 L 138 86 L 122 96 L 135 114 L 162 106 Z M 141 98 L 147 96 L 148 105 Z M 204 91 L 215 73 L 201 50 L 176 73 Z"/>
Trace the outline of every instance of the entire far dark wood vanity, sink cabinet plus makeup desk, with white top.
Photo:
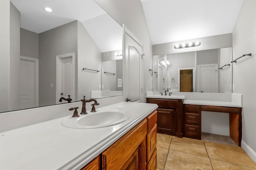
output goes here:
<path id="1" fill-rule="evenodd" d="M 242 95 L 186 94 L 184 92 L 177 92 L 176 94 L 174 96 L 161 96 L 147 92 L 146 102 L 158 104 L 158 133 L 201 140 L 202 111 L 229 113 L 230 137 L 238 146 L 241 146 L 242 104 L 239 100 L 241 101 Z M 183 95 L 188 95 L 189 100 Z M 223 101 L 222 97 L 225 98 L 225 96 L 230 98 L 230 102 Z M 191 100 L 193 98 L 196 100 Z M 211 99 L 220 99 L 220 101 L 211 101 Z M 174 133 L 172 133 L 172 128 Z"/>

